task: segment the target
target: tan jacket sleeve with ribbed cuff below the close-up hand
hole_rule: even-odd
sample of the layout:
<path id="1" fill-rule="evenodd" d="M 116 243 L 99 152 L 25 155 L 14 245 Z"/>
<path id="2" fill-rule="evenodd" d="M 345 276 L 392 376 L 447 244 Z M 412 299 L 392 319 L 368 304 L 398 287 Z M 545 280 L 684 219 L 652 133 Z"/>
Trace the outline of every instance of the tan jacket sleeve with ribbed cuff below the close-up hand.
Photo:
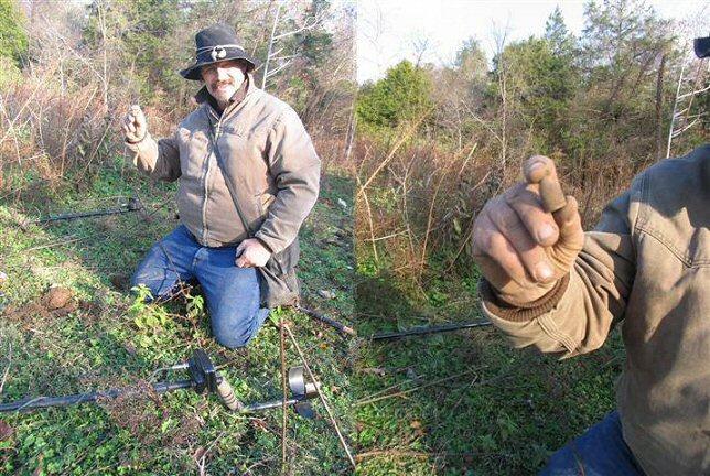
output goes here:
<path id="1" fill-rule="evenodd" d="M 600 224 L 585 234 L 584 248 L 560 285 L 521 310 L 498 301 L 481 285 L 484 313 L 515 347 L 534 346 L 562 358 L 594 350 L 623 318 L 636 270 L 632 230 L 643 180 L 610 203 Z"/>

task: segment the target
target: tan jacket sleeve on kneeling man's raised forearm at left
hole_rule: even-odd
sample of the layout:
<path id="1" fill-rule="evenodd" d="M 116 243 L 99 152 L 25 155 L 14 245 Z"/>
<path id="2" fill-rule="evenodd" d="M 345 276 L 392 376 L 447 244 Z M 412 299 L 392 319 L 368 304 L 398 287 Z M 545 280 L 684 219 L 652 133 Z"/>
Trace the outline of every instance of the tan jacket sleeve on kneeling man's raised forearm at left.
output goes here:
<path id="1" fill-rule="evenodd" d="M 176 133 L 176 132 L 175 132 Z M 180 178 L 180 150 L 175 137 L 160 139 L 158 142 L 146 133 L 136 143 L 126 142 L 126 148 L 133 159 L 133 165 L 154 180 L 174 182 Z"/>

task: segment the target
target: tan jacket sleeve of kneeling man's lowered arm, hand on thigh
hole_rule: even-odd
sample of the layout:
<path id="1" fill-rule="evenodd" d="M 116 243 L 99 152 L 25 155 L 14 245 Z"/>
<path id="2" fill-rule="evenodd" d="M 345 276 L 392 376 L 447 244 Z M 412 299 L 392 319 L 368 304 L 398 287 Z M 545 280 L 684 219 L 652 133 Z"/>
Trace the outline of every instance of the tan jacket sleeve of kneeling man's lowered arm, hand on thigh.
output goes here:
<path id="1" fill-rule="evenodd" d="M 278 192 L 255 234 L 272 252 L 288 247 L 313 208 L 319 193 L 321 160 L 301 119 L 287 109 L 267 139 L 267 160 Z"/>

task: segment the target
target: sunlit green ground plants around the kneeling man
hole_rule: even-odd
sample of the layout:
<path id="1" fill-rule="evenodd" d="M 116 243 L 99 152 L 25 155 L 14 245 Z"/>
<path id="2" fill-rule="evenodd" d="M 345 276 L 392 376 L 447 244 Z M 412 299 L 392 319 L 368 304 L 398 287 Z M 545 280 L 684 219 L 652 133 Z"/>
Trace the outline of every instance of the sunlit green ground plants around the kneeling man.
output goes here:
<path id="1" fill-rule="evenodd" d="M 184 302 L 161 305 L 130 296 L 128 277 L 148 248 L 176 224 L 170 201 L 174 186 L 153 184 L 133 171 L 121 176 L 120 171 L 118 162 L 107 165 L 82 193 L 68 187 L 30 192 L 31 181 L 24 186 L 14 182 L 19 196 L 4 193 L 0 270 L 9 279 L 1 288 L 1 400 L 126 385 L 136 385 L 150 398 L 2 414 L 0 474 L 172 475 L 200 467 L 209 474 L 279 474 L 279 410 L 241 416 L 225 410 L 215 396 L 176 391 L 155 397 L 146 390 L 147 381 L 160 377 L 153 370 L 203 347 L 240 400 L 279 398 L 279 332 L 267 322 L 246 348 L 229 350 L 213 340 L 196 290 Z M 33 225 L 26 232 L 18 226 L 46 212 L 112 206 L 111 197 L 133 193 L 154 210 L 150 221 L 129 214 Z M 353 312 L 352 242 L 343 238 L 352 235 L 352 196 L 351 178 L 337 173 L 324 177 L 322 198 L 303 229 L 300 272 L 305 301 L 345 322 Z M 169 205 L 158 209 L 165 201 Z M 71 290 L 72 303 L 50 310 L 41 298 L 51 285 Z M 332 290 L 335 298 L 323 300 L 321 289 Z M 300 313 L 273 315 L 292 323 L 344 432 L 353 434 L 349 343 Z M 287 343 L 287 365 L 300 364 Z M 315 401 L 314 409 L 315 420 L 289 413 L 289 464 L 298 475 L 340 473 L 348 467 L 347 459 L 321 403 Z"/>

